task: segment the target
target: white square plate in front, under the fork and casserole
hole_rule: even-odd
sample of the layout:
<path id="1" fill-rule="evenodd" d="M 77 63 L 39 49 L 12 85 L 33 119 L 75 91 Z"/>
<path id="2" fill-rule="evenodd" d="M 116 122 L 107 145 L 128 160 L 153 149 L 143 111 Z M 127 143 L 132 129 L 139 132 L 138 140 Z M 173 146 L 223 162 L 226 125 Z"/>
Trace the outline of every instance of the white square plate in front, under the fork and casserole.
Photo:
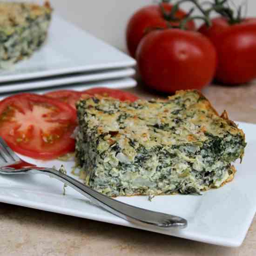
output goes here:
<path id="1" fill-rule="evenodd" d="M 188 220 L 188 228 L 180 231 L 158 228 L 147 229 L 149 231 L 204 243 L 240 246 L 256 212 L 256 125 L 239 123 L 239 127 L 245 132 L 248 145 L 243 163 L 235 164 L 237 173 L 232 182 L 203 195 L 156 196 L 152 202 L 146 196 L 120 197 L 118 200 Z M 43 162 L 22 158 L 39 166 L 55 165 L 58 168 L 64 164 L 68 174 L 74 166 L 73 161 Z M 145 229 L 94 206 L 69 187 L 66 195 L 62 193 L 63 184 L 44 175 L 0 176 L 0 202 Z"/>

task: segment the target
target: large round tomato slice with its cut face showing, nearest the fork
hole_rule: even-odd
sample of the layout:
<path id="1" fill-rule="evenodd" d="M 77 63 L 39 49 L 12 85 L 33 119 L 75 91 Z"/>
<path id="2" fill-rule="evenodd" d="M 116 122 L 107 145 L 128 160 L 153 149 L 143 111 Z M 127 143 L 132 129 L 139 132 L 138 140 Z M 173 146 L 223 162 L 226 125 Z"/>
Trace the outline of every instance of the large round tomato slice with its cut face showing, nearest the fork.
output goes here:
<path id="1" fill-rule="evenodd" d="M 76 111 L 68 104 L 36 94 L 0 101 L 0 136 L 16 152 L 53 159 L 74 150 Z"/>

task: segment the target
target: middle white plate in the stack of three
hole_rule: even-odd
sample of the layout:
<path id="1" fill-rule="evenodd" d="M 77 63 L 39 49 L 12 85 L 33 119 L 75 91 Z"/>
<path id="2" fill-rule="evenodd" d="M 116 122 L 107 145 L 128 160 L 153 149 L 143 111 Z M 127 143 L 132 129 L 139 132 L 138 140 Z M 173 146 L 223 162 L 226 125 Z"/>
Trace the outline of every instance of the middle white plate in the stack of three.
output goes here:
<path id="1" fill-rule="evenodd" d="M 119 68 L 113 70 L 96 71 L 92 73 L 78 73 L 68 75 L 58 75 L 54 77 L 44 77 L 29 81 L 15 81 L 0 84 L 0 94 L 24 90 L 34 90 L 48 87 L 59 87 L 62 85 L 71 85 L 74 83 L 85 83 L 92 81 L 102 81 L 110 79 L 125 78 L 135 74 L 133 68 Z M 117 88 L 119 87 L 116 84 Z M 72 87 L 72 86 L 71 86 Z M 115 87 L 113 87 L 115 88 Z M 58 88 L 56 88 L 57 90 Z"/>

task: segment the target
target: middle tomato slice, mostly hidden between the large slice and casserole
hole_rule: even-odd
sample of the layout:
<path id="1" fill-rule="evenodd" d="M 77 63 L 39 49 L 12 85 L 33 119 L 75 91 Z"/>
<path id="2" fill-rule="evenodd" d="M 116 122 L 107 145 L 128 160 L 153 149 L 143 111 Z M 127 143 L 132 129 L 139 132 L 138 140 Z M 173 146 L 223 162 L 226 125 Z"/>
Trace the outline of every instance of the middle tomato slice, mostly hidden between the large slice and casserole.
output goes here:
<path id="1" fill-rule="evenodd" d="M 80 92 L 72 91 L 72 90 L 58 90 L 44 94 L 47 97 L 58 99 L 59 101 L 63 101 L 70 105 L 72 108 L 75 108 L 75 103 L 81 97 Z"/>

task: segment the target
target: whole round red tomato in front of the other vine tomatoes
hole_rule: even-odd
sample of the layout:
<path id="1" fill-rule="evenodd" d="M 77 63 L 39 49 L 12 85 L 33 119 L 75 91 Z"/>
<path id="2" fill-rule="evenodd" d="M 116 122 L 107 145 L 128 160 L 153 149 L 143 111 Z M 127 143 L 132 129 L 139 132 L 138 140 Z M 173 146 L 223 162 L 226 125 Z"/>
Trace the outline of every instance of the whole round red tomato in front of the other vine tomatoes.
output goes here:
<path id="1" fill-rule="evenodd" d="M 173 93 L 201 89 L 216 71 L 216 50 L 201 34 L 181 29 L 153 31 L 137 50 L 142 80 L 155 90 Z"/>

